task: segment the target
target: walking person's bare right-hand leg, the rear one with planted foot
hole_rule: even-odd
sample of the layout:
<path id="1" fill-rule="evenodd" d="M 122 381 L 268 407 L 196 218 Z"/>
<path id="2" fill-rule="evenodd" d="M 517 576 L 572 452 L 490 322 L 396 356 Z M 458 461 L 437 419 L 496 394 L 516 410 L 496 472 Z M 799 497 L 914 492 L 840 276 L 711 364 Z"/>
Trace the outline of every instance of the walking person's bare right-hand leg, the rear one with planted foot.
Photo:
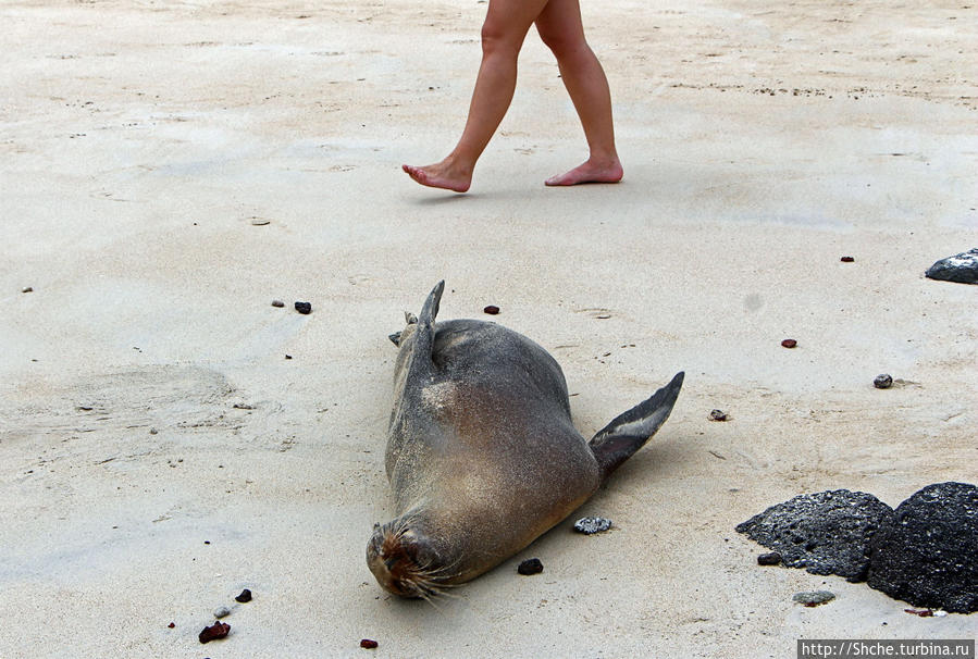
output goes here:
<path id="1" fill-rule="evenodd" d="M 615 149 L 611 92 L 601 62 L 584 39 L 579 0 L 550 0 L 536 17 L 536 30 L 557 58 L 590 151 L 584 163 L 546 184 L 618 183 L 622 169 Z"/>

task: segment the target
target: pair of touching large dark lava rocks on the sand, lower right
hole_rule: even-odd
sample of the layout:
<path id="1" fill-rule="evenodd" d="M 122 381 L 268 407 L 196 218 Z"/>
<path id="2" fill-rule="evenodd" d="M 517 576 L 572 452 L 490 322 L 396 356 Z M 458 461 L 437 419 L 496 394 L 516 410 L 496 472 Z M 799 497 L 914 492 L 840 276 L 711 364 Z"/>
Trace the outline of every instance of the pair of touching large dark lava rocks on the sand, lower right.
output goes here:
<path id="1" fill-rule="evenodd" d="M 838 574 L 915 607 L 978 611 L 978 487 L 937 483 L 896 510 L 847 489 L 800 495 L 736 531 L 782 563 Z"/>

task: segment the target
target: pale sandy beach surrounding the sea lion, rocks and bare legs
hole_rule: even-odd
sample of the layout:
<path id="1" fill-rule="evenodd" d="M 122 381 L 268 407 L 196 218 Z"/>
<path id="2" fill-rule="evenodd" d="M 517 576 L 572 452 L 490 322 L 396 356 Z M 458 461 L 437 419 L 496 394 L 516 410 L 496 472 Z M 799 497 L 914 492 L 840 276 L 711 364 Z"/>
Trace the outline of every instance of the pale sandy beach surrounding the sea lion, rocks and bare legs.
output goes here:
<path id="1" fill-rule="evenodd" d="M 978 287 L 924 277 L 978 246 L 978 10 L 582 10 L 622 183 L 544 187 L 586 151 L 531 30 L 454 195 L 400 164 L 454 145 L 484 1 L 0 5 L 0 657 L 754 659 L 978 634 L 760 568 L 733 530 L 802 493 L 895 507 L 978 482 Z M 443 278 L 440 318 L 554 355 L 585 437 L 686 380 L 571 519 L 430 606 L 363 557 L 392 517 L 387 335 Z M 585 514 L 615 526 L 571 533 Z M 837 598 L 792 602 L 816 589 Z M 231 634 L 200 645 L 222 605 Z"/>

